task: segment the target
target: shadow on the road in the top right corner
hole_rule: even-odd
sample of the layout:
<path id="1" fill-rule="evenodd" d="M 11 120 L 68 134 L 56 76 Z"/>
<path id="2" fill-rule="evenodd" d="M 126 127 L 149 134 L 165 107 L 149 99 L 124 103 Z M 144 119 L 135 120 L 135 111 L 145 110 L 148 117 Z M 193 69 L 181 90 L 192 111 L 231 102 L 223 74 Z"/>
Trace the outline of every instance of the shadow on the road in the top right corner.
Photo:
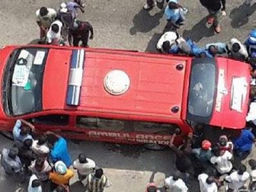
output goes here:
<path id="1" fill-rule="evenodd" d="M 246 6 L 246 4 L 241 4 L 238 8 L 234 8 L 230 12 L 230 19 L 232 28 L 240 28 L 249 21 L 249 17 L 255 12 L 256 3 L 252 6 Z"/>

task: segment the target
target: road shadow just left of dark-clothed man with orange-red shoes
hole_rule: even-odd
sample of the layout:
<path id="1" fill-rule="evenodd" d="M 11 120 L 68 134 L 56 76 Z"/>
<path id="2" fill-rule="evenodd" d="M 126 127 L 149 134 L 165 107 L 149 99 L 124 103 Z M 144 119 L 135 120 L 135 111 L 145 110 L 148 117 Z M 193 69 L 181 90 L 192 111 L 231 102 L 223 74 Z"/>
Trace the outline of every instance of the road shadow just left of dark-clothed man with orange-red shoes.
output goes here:
<path id="1" fill-rule="evenodd" d="M 207 23 L 207 17 L 204 17 L 200 20 L 195 26 L 193 26 L 190 30 L 184 30 L 183 35 L 184 38 L 190 38 L 194 42 L 199 42 L 204 37 L 210 37 L 214 35 L 214 27 L 207 28 L 205 24 Z"/>

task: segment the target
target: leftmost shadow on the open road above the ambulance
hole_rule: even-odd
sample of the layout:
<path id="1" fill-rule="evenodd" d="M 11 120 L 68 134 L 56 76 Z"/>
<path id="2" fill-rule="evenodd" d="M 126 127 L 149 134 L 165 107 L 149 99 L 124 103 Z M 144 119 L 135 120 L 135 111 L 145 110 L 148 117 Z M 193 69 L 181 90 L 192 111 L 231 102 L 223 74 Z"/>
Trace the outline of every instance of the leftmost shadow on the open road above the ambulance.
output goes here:
<path id="1" fill-rule="evenodd" d="M 147 33 L 156 28 L 156 26 L 160 24 L 160 19 L 163 17 L 163 14 L 164 10 L 161 10 L 155 15 L 150 15 L 149 12 L 142 8 L 132 19 L 133 26 L 130 29 L 130 34 L 136 35 L 137 32 Z"/>

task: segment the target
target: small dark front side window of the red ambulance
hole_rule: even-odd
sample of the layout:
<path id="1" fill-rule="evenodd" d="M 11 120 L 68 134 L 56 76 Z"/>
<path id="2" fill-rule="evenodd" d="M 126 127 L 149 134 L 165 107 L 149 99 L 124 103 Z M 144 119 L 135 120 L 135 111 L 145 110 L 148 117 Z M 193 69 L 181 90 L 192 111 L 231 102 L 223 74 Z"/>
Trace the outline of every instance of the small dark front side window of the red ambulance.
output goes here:
<path id="1" fill-rule="evenodd" d="M 52 115 L 42 115 L 32 118 L 33 123 L 37 124 L 47 124 L 47 125 L 67 125 L 68 115 L 62 114 L 52 114 Z"/>

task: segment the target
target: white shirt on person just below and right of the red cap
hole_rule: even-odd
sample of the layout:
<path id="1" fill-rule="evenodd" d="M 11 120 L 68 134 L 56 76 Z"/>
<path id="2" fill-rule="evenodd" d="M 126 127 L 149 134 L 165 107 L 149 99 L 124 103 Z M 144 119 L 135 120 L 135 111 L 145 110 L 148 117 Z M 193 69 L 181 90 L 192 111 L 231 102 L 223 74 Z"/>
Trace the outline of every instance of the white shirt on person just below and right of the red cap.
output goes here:
<path id="1" fill-rule="evenodd" d="M 228 173 L 232 170 L 232 163 L 229 161 L 232 159 L 232 154 L 228 151 L 225 151 L 223 156 L 213 156 L 211 157 L 211 163 L 214 164 L 216 169 L 218 170 L 219 173 L 224 174 Z"/>

